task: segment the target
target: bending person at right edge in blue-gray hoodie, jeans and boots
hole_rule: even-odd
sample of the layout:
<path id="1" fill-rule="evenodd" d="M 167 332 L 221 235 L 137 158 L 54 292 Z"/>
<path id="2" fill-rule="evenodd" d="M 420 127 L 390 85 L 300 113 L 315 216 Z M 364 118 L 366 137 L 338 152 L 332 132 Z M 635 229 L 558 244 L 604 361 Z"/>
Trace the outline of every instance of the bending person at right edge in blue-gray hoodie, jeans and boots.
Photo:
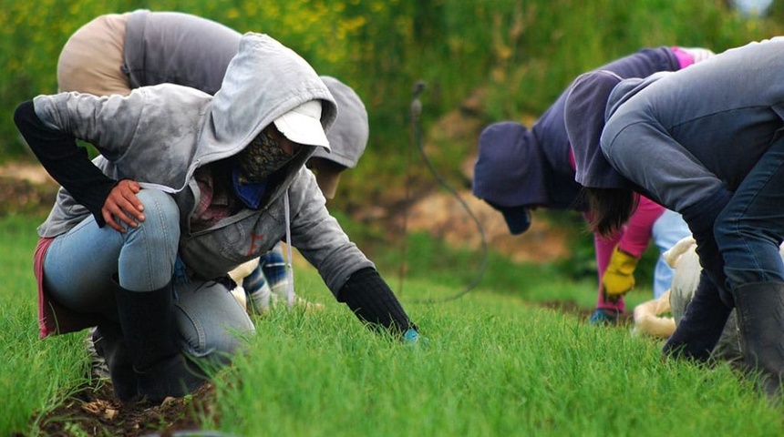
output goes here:
<path id="1" fill-rule="evenodd" d="M 680 212 L 702 266 L 664 346 L 707 361 L 730 311 L 748 371 L 772 397 L 784 377 L 784 38 L 645 79 L 575 80 L 564 120 L 593 228 L 617 229 L 634 192 Z"/>

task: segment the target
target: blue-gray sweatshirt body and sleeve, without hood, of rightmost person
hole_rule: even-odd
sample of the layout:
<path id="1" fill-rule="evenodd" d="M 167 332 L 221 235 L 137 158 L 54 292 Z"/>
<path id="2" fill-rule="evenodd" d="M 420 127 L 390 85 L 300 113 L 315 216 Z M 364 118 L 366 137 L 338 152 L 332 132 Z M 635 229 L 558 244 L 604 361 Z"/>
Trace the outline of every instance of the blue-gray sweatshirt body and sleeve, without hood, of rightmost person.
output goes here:
<path id="1" fill-rule="evenodd" d="M 606 97 L 601 136 L 612 167 L 587 170 L 628 178 L 679 212 L 724 185 L 735 191 L 781 137 L 782 51 L 777 36 L 676 73 L 619 81 Z"/>

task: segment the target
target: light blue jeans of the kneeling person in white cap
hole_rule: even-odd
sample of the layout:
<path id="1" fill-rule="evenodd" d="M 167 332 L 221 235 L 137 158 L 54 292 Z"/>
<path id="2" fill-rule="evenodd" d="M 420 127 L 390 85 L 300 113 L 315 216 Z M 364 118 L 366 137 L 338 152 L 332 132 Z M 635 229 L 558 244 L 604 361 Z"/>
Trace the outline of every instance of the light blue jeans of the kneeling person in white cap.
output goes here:
<path id="1" fill-rule="evenodd" d="M 120 233 L 98 228 L 90 216 L 52 242 L 44 260 L 45 287 L 70 310 L 117 320 L 112 276 L 126 290 L 151 291 L 168 285 L 180 239 L 180 212 L 170 195 L 142 189 L 145 221 Z M 205 254 L 205 256 L 209 256 Z M 191 278 L 175 284 L 175 320 L 182 350 L 193 356 L 233 353 L 236 333 L 253 332 L 253 322 L 220 282 Z"/>

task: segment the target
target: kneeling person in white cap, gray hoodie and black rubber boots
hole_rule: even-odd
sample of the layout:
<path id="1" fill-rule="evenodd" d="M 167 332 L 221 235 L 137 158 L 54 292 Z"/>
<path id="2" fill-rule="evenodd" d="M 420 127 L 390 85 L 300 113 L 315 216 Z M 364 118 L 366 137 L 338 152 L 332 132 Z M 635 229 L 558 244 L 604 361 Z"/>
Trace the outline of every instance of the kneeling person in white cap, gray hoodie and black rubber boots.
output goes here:
<path id="1" fill-rule="evenodd" d="M 181 396 L 203 382 L 201 364 L 225 364 L 242 350 L 237 334 L 253 332 L 227 272 L 286 239 L 357 318 L 417 341 L 304 168 L 329 147 L 335 116 L 313 68 L 253 33 L 214 97 L 162 84 L 19 105 L 16 126 L 62 186 L 38 228 L 41 335 L 98 326 L 119 399 Z"/>

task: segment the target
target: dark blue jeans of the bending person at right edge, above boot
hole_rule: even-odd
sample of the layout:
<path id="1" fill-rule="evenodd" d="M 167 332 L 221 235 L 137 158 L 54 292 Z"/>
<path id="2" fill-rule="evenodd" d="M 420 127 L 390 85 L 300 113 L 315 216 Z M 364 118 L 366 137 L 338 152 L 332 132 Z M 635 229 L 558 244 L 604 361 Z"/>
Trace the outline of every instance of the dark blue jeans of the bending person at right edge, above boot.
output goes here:
<path id="1" fill-rule="evenodd" d="M 727 287 L 784 281 L 784 138 L 751 168 L 719 214 L 714 233 L 724 257 Z"/>

